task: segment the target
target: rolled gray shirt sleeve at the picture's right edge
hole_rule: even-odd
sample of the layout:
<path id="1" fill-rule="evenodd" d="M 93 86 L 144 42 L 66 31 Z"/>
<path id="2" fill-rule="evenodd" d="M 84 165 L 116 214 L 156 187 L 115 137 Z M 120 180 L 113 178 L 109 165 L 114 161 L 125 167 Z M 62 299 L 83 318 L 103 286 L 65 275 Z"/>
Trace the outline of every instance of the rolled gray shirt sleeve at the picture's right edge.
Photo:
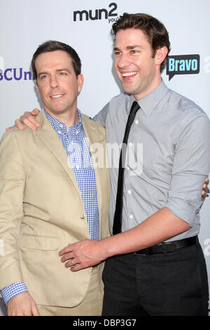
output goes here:
<path id="1" fill-rule="evenodd" d="M 181 131 L 174 154 L 167 209 L 193 227 L 202 206 L 202 185 L 210 171 L 210 124 L 205 115 Z"/>

